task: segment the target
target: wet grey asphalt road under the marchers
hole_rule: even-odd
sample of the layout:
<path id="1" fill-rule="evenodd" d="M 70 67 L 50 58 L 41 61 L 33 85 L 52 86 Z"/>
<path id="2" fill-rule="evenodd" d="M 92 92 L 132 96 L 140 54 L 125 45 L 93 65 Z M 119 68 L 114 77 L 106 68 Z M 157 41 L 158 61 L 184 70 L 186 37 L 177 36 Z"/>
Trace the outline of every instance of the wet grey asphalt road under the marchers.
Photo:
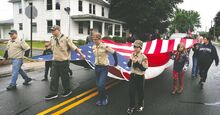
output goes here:
<path id="1" fill-rule="evenodd" d="M 220 48 L 217 48 L 220 54 Z M 191 67 L 190 63 L 190 67 Z M 68 98 L 44 101 L 49 92 L 49 82 L 40 81 L 44 70 L 29 72 L 34 80 L 30 86 L 23 86 L 18 79 L 16 91 L 6 91 L 10 77 L 0 79 L 0 114 L 1 115 L 127 115 L 128 82 L 109 78 L 107 88 L 109 104 L 97 107 L 95 75 L 92 70 L 71 65 L 73 94 Z M 191 70 L 185 74 L 185 87 L 181 95 L 171 95 L 172 67 L 160 76 L 146 80 L 145 108 L 135 115 L 219 115 L 220 114 L 220 66 L 213 63 L 208 73 L 204 89 L 200 89 L 199 78 L 191 79 Z M 60 88 L 60 93 L 62 93 Z"/>

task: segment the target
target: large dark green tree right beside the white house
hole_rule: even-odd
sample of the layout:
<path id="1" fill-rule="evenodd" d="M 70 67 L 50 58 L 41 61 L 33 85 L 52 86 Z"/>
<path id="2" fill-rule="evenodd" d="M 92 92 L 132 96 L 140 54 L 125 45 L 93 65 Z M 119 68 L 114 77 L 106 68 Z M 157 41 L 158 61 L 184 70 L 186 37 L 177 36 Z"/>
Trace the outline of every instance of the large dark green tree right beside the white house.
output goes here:
<path id="1" fill-rule="evenodd" d="M 165 32 L 174 8 L 183 0 L 111 0 L 110 18 L 125 21 L 132 33 Z"/>

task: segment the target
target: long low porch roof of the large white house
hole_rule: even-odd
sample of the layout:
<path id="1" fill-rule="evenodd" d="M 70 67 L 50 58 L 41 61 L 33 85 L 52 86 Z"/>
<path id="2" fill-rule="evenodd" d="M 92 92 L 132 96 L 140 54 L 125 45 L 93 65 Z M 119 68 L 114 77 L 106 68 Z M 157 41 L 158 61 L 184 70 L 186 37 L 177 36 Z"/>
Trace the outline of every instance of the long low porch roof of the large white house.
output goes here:
<path id="1" fill-rule="evenodd" d="M 72 15 L 71 18 L 76 20 L 76 21 L 87 20 L 87 19 L 88 20 L 96 19 L 96 20 L 101 20 L 101 21 L 125 24 L 125 22 L 123 22 L 123 21 L 119 21 L 119 20 L 115 20 L 115 19 L 110 19 L 110 18 L 105 18 L 105 17 L 100 17 L 100 16 L 95 16 L 95 15 L 90 15 L 90 14 Z"/>

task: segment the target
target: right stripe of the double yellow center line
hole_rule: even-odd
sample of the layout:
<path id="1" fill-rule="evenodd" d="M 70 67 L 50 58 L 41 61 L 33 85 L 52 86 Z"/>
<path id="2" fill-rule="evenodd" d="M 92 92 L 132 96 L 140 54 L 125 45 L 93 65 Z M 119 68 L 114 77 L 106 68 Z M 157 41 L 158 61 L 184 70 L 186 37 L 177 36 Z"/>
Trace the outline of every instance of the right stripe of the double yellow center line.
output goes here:
<path id="1" fill-rule="evenodd" d="M 109 89 L 109 88 L 113 87 L 114 85 L 117 85 L 118 83 L 120 83 L 120 81 L 117 81 L 117 82 L 114 82 L 114 83 L 108 85 L 108 86 L 106 87 L 106 89 Z M 94 92 L 94 93 L 92 93 L 92 94 L 90 94 L 90 95 L 88 95 L 88 96 L 86 96 L 86 97 L 84 97 L 83 99 L 81 99 L 81 100 L 79 100 L 79 101 L 77 101 L 77 102 L 74 102 L 74 103 L 71 104 L 71 105 L 68 105 L 67 107 L 65 107 L 65 108 L 63 108 L 63 109 L 61 109 L 61 110 L 59 110 L 59 111 L 53 113 L 52 115 L 61 115 L 61 114 L 65 113 L 65 112 L 67 112 L 68 110 L 70 110 L 70 109 L 72 109 L 72 108 L 74 108 L 74 107 L 76 107 L 76 106 L 82 104 L 83 102 L 85 102 L 85 101 L 87 101 L 87 100 L 89 100 L 89 99 L 95 97 L 96 95 L 98 95 L 98 92 L 97 92 L 97 91 Z"/>

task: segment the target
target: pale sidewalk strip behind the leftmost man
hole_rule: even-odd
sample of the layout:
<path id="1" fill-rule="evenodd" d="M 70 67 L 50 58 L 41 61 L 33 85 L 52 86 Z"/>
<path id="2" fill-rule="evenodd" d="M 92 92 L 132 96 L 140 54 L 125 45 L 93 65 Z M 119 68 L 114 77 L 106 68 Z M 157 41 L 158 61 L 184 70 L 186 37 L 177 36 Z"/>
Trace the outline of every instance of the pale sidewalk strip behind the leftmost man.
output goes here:
<path id="1" fill-rule="evenodd" d="M 24 63 L 22 65 L 22 69 L 25 71 L 34 71 L 41 68 L 44 68 L 44 62 L 30 62 L 30 63 Z M 10 76 L 11 71 L 12 71 L 11 64 L 0 66 L 0 78 Z"/>

